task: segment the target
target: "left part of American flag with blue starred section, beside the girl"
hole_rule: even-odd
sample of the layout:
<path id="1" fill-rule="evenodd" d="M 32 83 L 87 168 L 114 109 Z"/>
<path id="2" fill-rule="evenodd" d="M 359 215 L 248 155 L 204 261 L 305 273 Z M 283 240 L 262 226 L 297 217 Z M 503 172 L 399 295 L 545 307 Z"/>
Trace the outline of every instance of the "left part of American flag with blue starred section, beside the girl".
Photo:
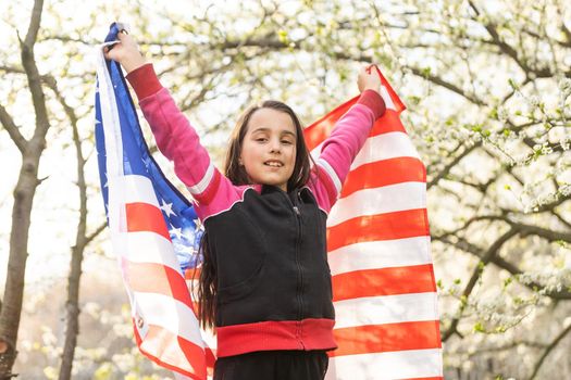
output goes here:
<path id="1" fill-rule="evenodd" d="M 105 41 L 116 39 L 113 24 Z M 112 43 L 112 42 L 110 42 Z M 113 251 L 142 354 L 177 378 L 206 379 L 203 342 L 184 270 L 195 267 L 200 224 L 149 154 L 121 67 L 97 53 L 96 143 Z"/>

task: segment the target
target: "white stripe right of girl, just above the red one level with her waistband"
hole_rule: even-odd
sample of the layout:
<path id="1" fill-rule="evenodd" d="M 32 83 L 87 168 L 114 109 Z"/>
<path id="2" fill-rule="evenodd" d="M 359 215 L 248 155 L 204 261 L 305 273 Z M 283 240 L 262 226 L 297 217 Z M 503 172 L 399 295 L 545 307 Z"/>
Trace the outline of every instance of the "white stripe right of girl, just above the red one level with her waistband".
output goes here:
<path id="1" fill-rule="evenodd" d="M 335 328 L 438 320 L 436 293 L 367 296 L 334 302 Z"/>

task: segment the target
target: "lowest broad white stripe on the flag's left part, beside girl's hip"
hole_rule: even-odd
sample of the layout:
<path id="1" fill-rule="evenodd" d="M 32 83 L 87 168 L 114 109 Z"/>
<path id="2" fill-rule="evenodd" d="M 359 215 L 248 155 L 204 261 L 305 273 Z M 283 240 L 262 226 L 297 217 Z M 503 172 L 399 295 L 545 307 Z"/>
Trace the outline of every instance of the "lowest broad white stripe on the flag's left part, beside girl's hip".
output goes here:
<path id="1" fill-rule="evenodd" d="M 145 326 L 159 326 L 201 347 L 204 346 L 195 314 L 190 307 L 172 296 L 134 292 L 132 308 L 142 318 Z"/>

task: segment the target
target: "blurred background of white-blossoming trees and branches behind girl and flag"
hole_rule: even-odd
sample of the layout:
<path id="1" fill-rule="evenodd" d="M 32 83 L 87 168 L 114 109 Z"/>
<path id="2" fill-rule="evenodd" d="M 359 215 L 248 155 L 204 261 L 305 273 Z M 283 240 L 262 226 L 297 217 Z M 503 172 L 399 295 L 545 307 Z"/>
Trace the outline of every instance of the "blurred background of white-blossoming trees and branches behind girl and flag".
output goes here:
<path id="1" fill-rule="evenodd" d="M 171 377 L 135 349 L 104 228 L 94 51 L 113 21 L 219 164 L 248 104 L 308 125 L 378 63 L 427 166 L 445 378 L 571 376 L 569 1 L 8 0 L 0 378 Z"/>

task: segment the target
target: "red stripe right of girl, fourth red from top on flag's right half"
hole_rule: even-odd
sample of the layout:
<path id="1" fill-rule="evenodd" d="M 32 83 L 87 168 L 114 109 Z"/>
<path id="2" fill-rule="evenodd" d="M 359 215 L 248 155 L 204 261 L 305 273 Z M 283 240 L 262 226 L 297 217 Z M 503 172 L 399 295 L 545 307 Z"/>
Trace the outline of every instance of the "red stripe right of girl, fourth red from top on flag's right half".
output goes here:
<path id="1" fill-rule="evenodd" d="M 356 270 L 333 276 L 333 301 L 435 292 L 432 264 Z"/>

